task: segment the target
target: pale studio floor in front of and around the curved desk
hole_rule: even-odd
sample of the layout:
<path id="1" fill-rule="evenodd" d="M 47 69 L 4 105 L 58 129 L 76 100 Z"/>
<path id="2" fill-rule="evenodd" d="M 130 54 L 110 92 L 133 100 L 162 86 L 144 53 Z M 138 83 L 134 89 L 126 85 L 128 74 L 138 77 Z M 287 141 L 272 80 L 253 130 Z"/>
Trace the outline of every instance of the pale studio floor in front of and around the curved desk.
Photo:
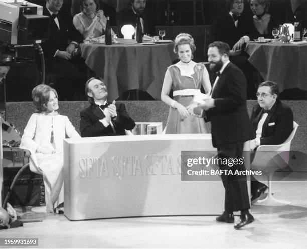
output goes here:
<path id="1" fill-rule="evenodd" d="M 38 222 L 1 230 L 0 237 L 38 238 L 33 248 L 306 248 L 307 181 L 275 181 L 273 193 L 291 204 L 252 205 L 255 222 L 240 230 L 217 223 L 215 216 L 69 221 L 63 214 L 17 208 L 22 219 Z"/>

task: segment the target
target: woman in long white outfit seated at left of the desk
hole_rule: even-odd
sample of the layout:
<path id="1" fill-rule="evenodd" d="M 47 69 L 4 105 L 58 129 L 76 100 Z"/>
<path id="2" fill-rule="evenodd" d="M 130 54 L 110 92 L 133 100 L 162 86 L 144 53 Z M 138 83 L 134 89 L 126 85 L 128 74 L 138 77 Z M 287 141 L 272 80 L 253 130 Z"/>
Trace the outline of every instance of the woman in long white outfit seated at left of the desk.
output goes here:
<path id="1" fill-rule="evenodd" d="M 43 175 L 46 211 L 54 212 L 64 202 L 63 139 L 80 137 L 67 116 L 58 114 L 58 95 L 47 85 L 32 91 L 38 109 L 28 121 L 20 148 L 28 149 L 30 170 Z"/>

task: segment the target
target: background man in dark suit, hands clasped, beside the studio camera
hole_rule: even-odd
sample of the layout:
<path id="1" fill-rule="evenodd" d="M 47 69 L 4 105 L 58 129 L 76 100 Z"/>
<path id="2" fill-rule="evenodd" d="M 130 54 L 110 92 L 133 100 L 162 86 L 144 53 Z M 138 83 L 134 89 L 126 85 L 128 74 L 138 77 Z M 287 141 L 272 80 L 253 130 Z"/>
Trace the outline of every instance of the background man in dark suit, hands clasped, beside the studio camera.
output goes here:
<path id="1" fill-rule="evenodd" d="M 75 29 L 59 11 L 63 0 L 46 0 L 43 15 L 51 18 L 49 40 L 42 43 L 46 59 L 47 73 L 54 75 L 55 88 L 63 99 L 71 99 L 75 92 L 82 91 L 86 79 L 86 65 L 75 51 L 83 40 Z"/>

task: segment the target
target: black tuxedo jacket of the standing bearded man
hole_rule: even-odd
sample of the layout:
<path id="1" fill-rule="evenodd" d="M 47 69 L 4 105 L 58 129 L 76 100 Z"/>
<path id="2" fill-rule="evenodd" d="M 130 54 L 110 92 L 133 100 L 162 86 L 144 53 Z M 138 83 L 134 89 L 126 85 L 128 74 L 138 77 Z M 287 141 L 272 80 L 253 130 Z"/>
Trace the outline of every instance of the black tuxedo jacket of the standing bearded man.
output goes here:
<path id="1" fill-rule="evenodd" d="M 211 121 L 213 147 L 255 137 L 246 107 L 246 79 L 236 65 L 230 62 L 225 67 L 212 98 L 215 107 L 206 114 Z"/>

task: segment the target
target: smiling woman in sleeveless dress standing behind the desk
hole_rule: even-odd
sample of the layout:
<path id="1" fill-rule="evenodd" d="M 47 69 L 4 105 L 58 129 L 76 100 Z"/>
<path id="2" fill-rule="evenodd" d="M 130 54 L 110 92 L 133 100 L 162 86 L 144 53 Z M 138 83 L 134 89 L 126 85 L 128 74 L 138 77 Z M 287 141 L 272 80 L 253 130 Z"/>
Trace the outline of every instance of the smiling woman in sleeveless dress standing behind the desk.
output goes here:
<path id="1" fill-rule="evenodd" d="M 206 93 L 211 91 L 206 67 L 192 61 L 195 49 L 191 35 L 181 33 L 175 38 L 174 52 L 178 54 L 180 61 L 168 67 L 161 93 L 162 101 L 171 107 L 165 134 L 208 132 L 204 119 L 190 115 L 186 109 L 194 95 L 200 93 L 201 86 Z M 169 97 L 171 89 L 174 99 Z"/>

